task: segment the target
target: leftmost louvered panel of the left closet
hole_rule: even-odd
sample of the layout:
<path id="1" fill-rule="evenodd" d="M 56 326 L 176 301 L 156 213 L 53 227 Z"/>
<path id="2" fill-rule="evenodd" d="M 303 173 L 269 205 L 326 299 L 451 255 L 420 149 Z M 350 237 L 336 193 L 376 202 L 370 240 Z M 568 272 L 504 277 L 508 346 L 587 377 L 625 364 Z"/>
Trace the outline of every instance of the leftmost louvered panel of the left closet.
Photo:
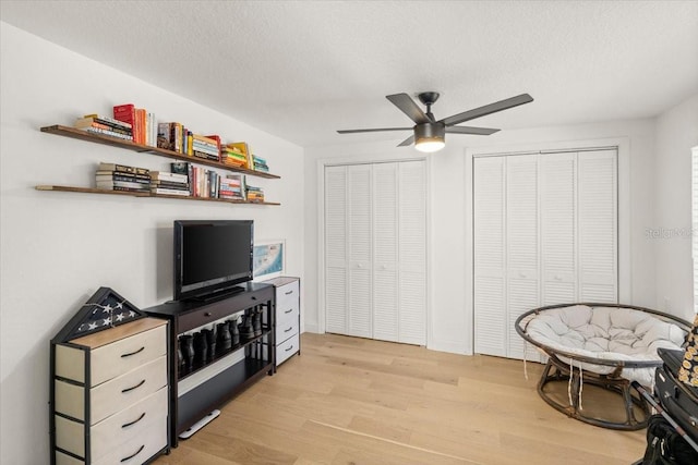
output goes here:
<path id="1" fill-rule="evenodd" d="M 325 168 L 325 330 L 346 334 L 347 168 Z"/>

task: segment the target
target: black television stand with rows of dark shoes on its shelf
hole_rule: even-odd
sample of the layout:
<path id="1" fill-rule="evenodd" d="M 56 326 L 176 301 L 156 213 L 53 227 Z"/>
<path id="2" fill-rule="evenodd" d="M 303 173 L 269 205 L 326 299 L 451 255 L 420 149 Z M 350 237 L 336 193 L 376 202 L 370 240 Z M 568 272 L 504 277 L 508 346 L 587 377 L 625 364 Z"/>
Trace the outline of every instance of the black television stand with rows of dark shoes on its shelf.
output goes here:
<path id="1" fill-rule="evenodd" d="M 177 446 L 180 435 L 215 409 L 267 375 L 275 371 L 275 289 L 272 284 L 248 282 L 242 290 L 208 302 L 174 301 L 144 311 L 170 321 L 168 358 L 170 366 L 170 437 Z M 212 360 L 179 366 L 178 341 L 182 334 L 216 328 L 237 314 L 262 310 L 262 334 L 240 338 L 239 344 L 217 351 Z M 188 435 L 183 435 L 186 437 Z"/>

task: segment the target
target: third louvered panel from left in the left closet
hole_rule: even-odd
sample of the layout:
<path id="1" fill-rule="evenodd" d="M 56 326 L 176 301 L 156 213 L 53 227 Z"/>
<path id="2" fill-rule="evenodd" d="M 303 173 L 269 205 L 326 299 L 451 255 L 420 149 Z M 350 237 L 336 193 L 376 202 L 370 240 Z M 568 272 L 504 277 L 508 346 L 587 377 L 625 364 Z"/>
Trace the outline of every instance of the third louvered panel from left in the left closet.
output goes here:
<path id="1" fill-rule="evenodd" d="M 398 341 L 398 170 L 373 167 L 373 338 Z"/>

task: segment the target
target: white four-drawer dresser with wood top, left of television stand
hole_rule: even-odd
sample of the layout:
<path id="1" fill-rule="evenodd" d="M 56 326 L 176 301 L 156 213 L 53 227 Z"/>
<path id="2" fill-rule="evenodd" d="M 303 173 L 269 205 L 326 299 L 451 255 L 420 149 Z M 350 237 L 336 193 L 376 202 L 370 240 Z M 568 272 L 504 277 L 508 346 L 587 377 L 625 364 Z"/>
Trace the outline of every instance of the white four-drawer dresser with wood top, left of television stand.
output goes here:
<path id="1" fill-rule="evenodd" d="M 52 343 L 52 461 L 143 464 L 169 450 L 168 322 L 141 318 Z"/>

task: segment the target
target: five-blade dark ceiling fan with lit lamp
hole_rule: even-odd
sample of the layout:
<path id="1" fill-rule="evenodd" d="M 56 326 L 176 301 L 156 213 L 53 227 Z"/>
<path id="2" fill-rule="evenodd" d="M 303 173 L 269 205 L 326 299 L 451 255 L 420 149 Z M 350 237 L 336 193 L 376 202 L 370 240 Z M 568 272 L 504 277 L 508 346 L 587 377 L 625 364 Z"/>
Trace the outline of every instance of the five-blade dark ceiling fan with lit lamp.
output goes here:
<path id="1" fill-rule="evenodd" d="M 432 105 L 438 99 L 438 93 L 426 91 L 418 95 L 419 100 L 426 106 L 426 113 L 412 100 L 407 94 L 388 95 L 385 98 L 390 100 L 393 105 L 399 108 L 405 114 L 407 114 L 414 123 L 413 127 L 381 127 L 374 130 L 341 130 L 337 131 L 339 134 L 352 134 L 352 133 L 374 133 L 382 131 L 413 131 L 414 134 L 398 144 L 398 147 L 406 147 L 414 143 L 414 148 L 420 151 L 437 151 L 444 148 L 446 133 L 449 134 L 477 134 L 489 136 L 500 130 L 493 130 L 488 127 L 472 127 L 472 126 L 457 126 L 456 124 L 464 123 L 466 121 L 474 120 L 486 114 L 496 113 L 497 111 L 507 110 L 509 108 L 518 107 L 519 105 L 529 103 L 533 101 L 533 98 L 528 94 L 521 94 L 516 97 L 507 98 L 505 100 L 496 101 L 494 103 L 485 105 L 484 107 L 476 108 L 472 110 L 464 111 L 462 113 L 454 114 L 453 117 L 444 118 L 436 121 L 432 114 Z"/>

